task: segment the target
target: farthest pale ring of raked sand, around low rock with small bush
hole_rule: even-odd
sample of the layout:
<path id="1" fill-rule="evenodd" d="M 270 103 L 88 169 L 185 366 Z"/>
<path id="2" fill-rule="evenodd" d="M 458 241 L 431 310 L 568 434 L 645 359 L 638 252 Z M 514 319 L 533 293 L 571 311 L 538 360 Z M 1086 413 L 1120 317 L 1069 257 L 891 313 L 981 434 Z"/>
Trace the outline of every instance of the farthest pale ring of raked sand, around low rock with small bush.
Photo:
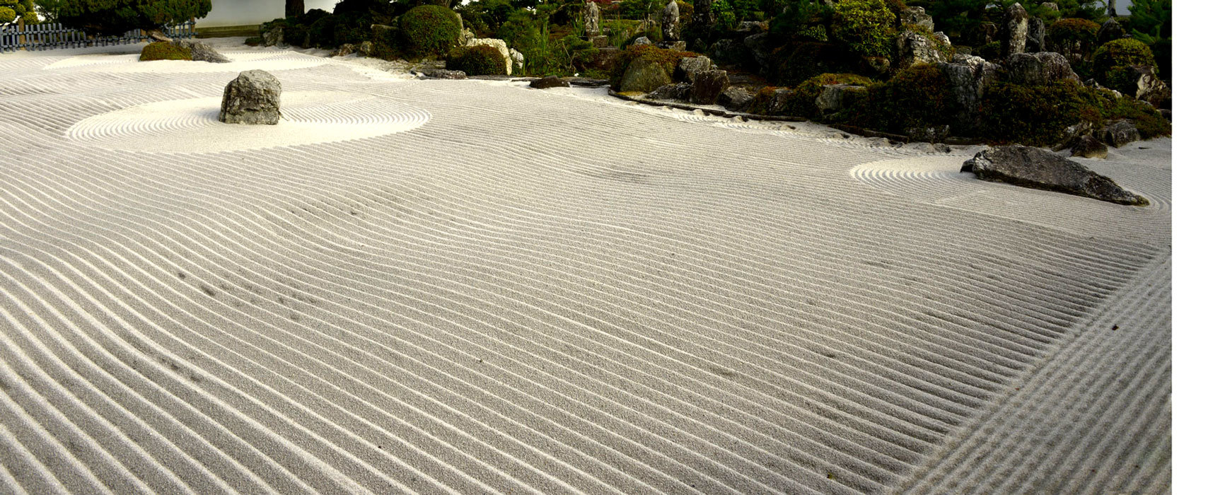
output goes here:
<path id="1" fill-rule="evenodd" d="M 187 60 L 140 61 L 140 54 L 89 54 L 70 56 L 43 66 L 43 70 L 83 72 L 241 72 L 251 69 L 267 71 L 306 69 L 323 65 L 327 59 L 288 53 L 223 53 L 228 64 Z"/>

